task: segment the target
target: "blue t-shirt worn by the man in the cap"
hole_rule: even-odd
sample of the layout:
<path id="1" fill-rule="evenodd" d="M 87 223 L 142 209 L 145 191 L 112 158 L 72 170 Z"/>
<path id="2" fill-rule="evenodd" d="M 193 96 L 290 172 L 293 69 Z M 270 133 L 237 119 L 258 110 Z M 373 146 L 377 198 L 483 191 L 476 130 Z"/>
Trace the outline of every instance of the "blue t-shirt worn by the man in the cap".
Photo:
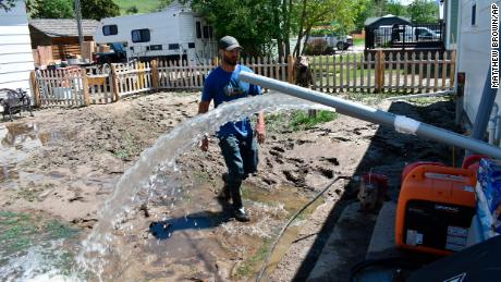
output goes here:
<path id="1" fill-rule="evenodd" d="M 217 108 L 222 102 L 247 97 L 248 95 L 259 95 L 261 88 L 257 85 L 240 81 L 240 72 L 253 72 L 245 65 L 237 64 L 233 72 L 227 72 L 218 66 L 209 73 L 205 83 L 201 100 L 208 101 L 213 99 Z M 245 118 L 243 121 L 228 122 L 219 128 L 218 137 L 236 135 L 237 137 L 247 137 L 253 134 L 250 120 Z"/>

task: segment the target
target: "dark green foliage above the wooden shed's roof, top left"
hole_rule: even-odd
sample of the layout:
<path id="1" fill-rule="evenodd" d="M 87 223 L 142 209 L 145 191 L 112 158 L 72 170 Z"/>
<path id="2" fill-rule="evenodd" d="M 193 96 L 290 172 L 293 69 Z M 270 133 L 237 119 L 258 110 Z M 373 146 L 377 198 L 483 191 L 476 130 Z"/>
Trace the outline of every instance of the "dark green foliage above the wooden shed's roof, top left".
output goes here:
<path id="1" fill-rule="evenodd" d="M 74 17 L 73 0 L 34 0 L 30 3 L 32 17 L 71 19 Z"/>

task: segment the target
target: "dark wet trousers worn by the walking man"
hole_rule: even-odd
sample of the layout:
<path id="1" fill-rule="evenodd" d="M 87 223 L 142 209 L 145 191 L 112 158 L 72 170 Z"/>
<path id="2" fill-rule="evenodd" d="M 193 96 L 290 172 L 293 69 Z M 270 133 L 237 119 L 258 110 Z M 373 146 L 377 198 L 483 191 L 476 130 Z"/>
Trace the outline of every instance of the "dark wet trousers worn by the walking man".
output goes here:
<path id="1" fill-rule="evenodd" d="M 225 185 L 230 189 L 233 208 L 240 209 L 243 207 L 242 181 L 257 171 L 257 142 L 253 135 L 246 138 L 229 135 L 219 139 L 219 146 L 228 168 Z"/>

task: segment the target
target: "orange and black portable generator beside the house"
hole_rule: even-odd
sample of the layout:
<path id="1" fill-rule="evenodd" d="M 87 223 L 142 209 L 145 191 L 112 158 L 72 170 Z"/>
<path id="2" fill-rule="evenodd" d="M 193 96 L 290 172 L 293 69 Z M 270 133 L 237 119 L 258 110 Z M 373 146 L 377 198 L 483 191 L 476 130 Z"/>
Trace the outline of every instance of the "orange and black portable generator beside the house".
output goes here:
<path id="1" fill-rule="evenodd" d="M 429 164 L 407 170 L 396 207 L 396 246 L 435 255 L 466 247 L 476 182 L 474 170 Z"/>

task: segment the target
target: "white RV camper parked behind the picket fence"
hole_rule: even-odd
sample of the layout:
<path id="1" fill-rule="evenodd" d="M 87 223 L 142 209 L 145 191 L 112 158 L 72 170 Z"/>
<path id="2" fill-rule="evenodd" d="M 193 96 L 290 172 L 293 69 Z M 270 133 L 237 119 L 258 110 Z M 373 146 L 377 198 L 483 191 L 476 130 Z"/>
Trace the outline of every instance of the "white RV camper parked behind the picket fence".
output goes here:
<path id="1" fill-rule="evenodd" d="M 157 13 L 102 19 L 94 39 L 121 44 L 129 59 L 183 58 L 194 64 L 217 54 L 212 26 L 179 3 Z"/>

